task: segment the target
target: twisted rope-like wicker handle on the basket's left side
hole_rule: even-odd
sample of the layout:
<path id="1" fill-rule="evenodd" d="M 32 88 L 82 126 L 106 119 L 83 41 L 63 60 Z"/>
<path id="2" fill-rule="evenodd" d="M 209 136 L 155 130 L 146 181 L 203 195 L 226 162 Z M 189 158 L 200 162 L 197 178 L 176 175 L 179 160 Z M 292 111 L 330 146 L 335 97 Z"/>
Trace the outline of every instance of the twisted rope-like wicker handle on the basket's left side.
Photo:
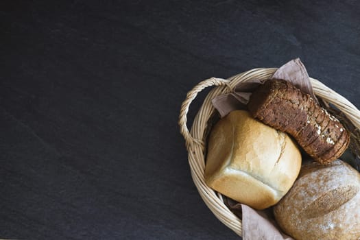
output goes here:
<path id="1" fill-rule="evenodd" d="M 189 129 L 187 128 L 187 112 L 189 111 L 189 107 L 193 99 L 197 96 L 197 93 L 200 93 L 204 88 L 208 86 L 228 86 L 228 88 L 231 89 L 231 86 L 229 85 L 230 80 L 224 80 L 222 78 L 216 78 L 211 77 L 207 80 L 204 80 L 197 84 L 191 91 L 187 93 L 187 98 L 185 101 L 182 102 L 181 109 L 180 109 L 180 116 L 179 116 L 179 125 L 180 125 L 180 133 L 182 136 L 184 136 L 185 143 L 187 147 L 191 145 L 192 143 L 198 143 L 200 145 L 204 145 L 201 139 L 195 139 L 193 136 L 191 136 Z"/>

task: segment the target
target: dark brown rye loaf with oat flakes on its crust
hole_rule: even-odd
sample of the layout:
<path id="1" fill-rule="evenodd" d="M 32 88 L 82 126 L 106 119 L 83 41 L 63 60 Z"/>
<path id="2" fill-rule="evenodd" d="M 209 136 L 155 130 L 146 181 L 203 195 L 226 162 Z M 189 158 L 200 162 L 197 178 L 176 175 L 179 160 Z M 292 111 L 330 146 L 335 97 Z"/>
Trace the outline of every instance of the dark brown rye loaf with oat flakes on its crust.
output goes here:
<path id="1" fill-rule="evenodd" d="M 248 109 L 256 119 L 289 133 L 323 164 L 339 158 L 350 142 L 350 134 L 336 117 L 285 80 L 267 80 L 256 88 Z"/>

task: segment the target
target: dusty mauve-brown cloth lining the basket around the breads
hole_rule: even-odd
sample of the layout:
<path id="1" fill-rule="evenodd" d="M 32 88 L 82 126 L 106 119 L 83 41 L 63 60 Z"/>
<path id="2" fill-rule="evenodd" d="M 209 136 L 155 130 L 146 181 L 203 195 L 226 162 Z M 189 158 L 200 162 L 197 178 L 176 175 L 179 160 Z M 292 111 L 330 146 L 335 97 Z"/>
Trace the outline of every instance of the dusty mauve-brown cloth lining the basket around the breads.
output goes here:
<path id="1" fill-rule="evenodd" d="M 307 69 L 299 58 L 291 60 L 280 67 L 272 76 L 272 79 L 283 79 L 291 82 L 305 93 L 309 93 L 315 101 L 317 98 L 313 93 L 313 87 L 309 80 Z M 259 84 L 266 80 L 250 80 L 237 84 L 232 93 L 215 97 L 212 101 L 213 106 L 217 109 L 221 117 L 225 117 L 232 110 L 246 110 L 246 104 L 250 99 L 252 91 Z M 318 101 L 317 101 L 318 103 Z M 263 211 L 255 211 L 245 204 L 240 204 L 224 197 L 225 204 L 238 217 L 242 218 L 242 236 L 243 240 L 291 240 L 292 238 L 280 232 L 280 228 L 274 220 L 272 208 Z"/>

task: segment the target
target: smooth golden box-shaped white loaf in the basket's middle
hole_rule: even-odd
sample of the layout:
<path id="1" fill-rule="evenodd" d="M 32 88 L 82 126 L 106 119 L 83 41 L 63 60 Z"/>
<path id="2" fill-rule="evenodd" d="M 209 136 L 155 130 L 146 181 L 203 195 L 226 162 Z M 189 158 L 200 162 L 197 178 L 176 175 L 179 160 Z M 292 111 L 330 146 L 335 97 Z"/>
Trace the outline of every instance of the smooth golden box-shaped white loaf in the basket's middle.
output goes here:
<path id="1" fill-rule="evenodd" d="M 208 140 L 206 184 L 255 209 L 276 204 L 300 171 L 298 147 L 284 132 L 235 110 L 220 119 Z"/>

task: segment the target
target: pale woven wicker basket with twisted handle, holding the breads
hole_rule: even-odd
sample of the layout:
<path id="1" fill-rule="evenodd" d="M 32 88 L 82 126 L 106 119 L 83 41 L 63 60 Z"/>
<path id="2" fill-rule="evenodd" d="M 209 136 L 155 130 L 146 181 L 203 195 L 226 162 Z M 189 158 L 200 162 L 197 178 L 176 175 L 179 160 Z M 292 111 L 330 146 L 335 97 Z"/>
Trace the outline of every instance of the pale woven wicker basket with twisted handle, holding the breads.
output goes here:
<path id="1" fill-rule="evenodd" d="M 204 169 L 205 169 L 205 148 L 206 148 L 206 135 L 209 128 L 209 120 L 213 117 L 215 108 L 211 104 L 211 99 L 214 97 L 229 93 L 232 88 L 239 82 L 247 82 L 253 78 L 260 80 L 267 80 L 274 75 L 277 69 L 252 69 L 245 73 L 240 73 L 228 80 L 219 78 L 210 78 L 197 84 L 189 93 L 187 98 L 182 103 L 179 117 L 180 132 L 184 136 L 187 151 L 189 152 L 189 164 L 191 168 L 191 176 L 197 190 L 199 191 L 205 204 L 215 216 L 228 228 L 234 230 L 237 235 L 241 236 L 241 219 L 234 215 L 229 208 L 224 204 L 223 197 L 221 194 L 213 191 L 209 188 L 204 181 Z M 360 111 L 350 103 L 345 97 L 335 93 L 318 80 L 310 78 L 311 84 L 315 95 L 322 99 L 325 106 L 329 103 L 333 104 L 340 110 L 344 116 L 355 126 L 355 130 L 359 133 L 360 129 Z M 191 101 L 195 99 L 197 93 L 200 93 L 204 88 L 208 86 L 217 86 L 213 88 L 210 93 L 206 96 L 204 103 L 202 104 L 199 112 L 195 116 L 191 131 L 187 128 L 187 112 Z M 353 133 L 353 131 L 352 131 Z"/>

